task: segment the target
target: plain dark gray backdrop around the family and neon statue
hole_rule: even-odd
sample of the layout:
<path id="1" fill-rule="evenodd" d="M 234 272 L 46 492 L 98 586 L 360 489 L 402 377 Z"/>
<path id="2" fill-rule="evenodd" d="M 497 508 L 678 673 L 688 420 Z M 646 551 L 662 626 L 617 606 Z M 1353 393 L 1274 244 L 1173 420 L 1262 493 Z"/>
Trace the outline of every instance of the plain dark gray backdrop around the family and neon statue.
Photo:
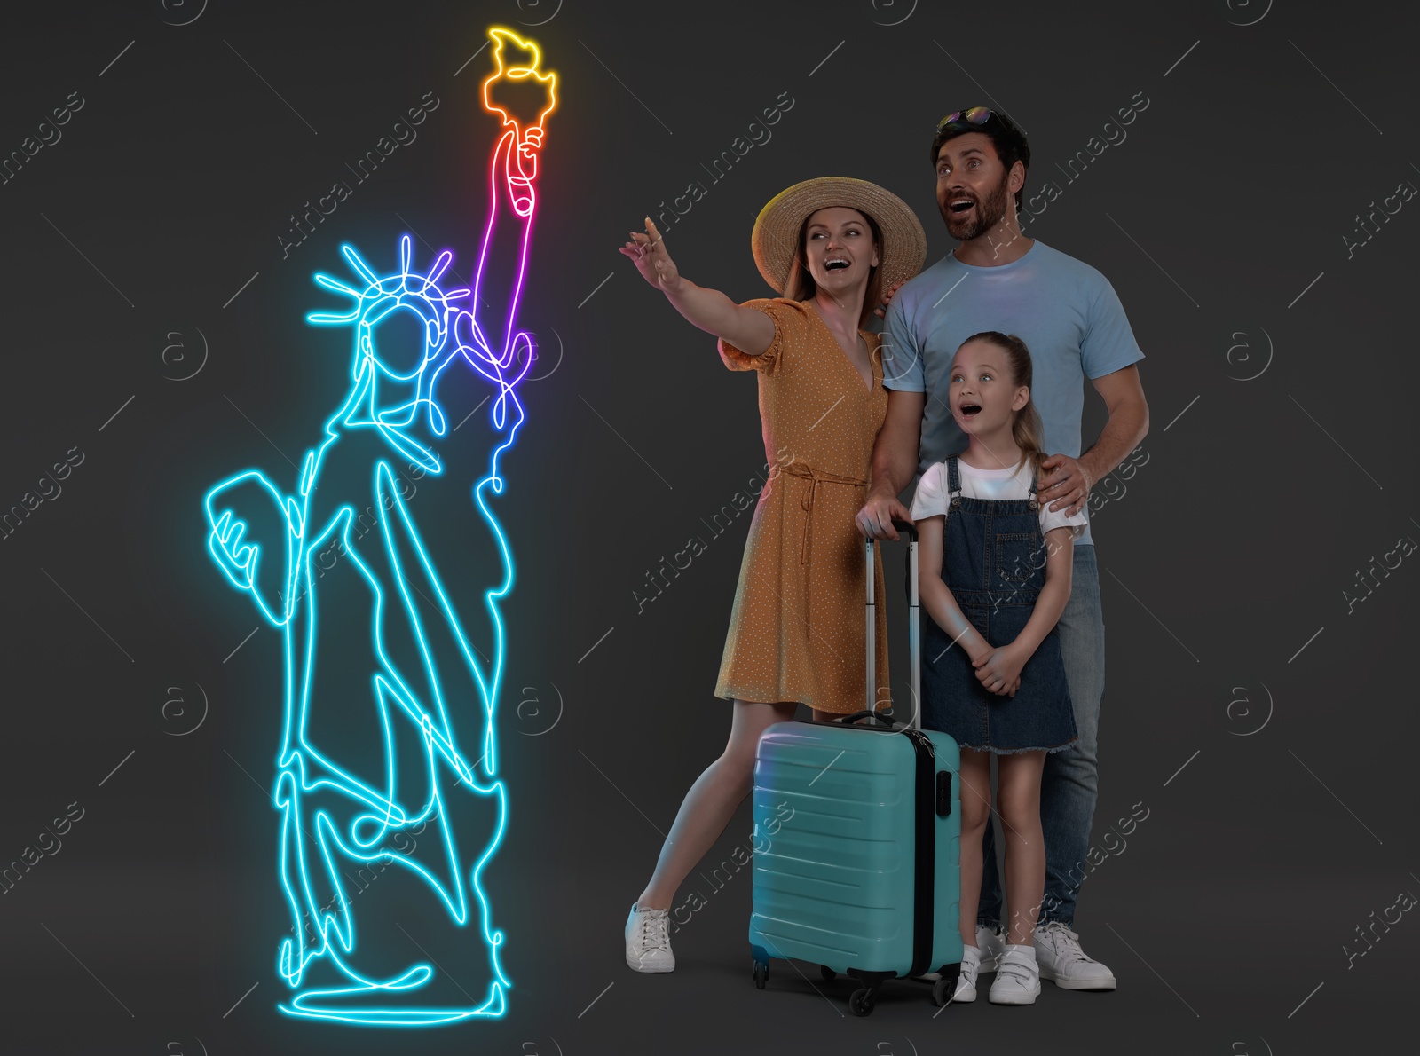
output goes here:
<path id="1" fill-rule="evenodd" d="M 1372 913 L 1420 893 L 1403 663 L 1420 558 L 1377 566 L 1355 612 L 1343 590 L 1397 539 L 1420 539 L 1407 443 L 1420 203 L 1377 216 L 1350 258 L 1343 236 L 1399 183 L 1420 186 L 1407 9 L 199 9 L 34 4 L 7 13 L 0 45 L 0 152 L 70 92 L 84 99 L 0 186 L 0 505 L 70 449 L 84 456 L 0 542 L 0 859 L 65 805 L 84 809 L 0 896 L 0 1049 L 1393 1050 L 1420 923 L 1403 915 L 1352 967 L 1348 951 L 1366 950 L 1355 930 Z M 344 273 L 341 241 L 383 267 L 415 231 L 417 263 L 447 246 L 467 274 L 493 145 L 477 99 L 487 53 L 456 71 L 490 23 L 531 33 L 562 78 L 523 315 L 544 376 L 524 385 L 498 504 L 518 583 L 500 701 L 510 830 L 487 889 L 510 1012 L 415 1036 L 294 1022 L 274 1008 L 285 924 L 264 791 L 280 642 L 264 629 L 237 649 L 257 619 L 206 555 L 200 500 L 246 466 L 288 487 L 284 457 L 341 393 L 345 345 L 302 322 L 331 305 L 311 274 Z M 283 258 L 287 217 L 427 91 L 440 106 L 417 141 Z M 701 163 L 781 92 L 794 105 L 772 139 L 709 183 Z M 1127 139 L 1065 185 L 1058 163 L 1136 92 L 1149 104 Z M 709 904 L 673 937 L 680 967 L 635 975 L 626 908 L 728 728 L 711 687 L 748 517 L 643 613 L 632 592 L 764 454 L 754 382 L 724 370 L 615 247 L 701 180 L 667 246 L 696 281 L 758 297 L 755 213 L 792 182 L 849 175 L 917 207 L 936 258 L 950 243 L 927 146 L 944 112 L 973 104 L 1030 133 L 1030 192 L 1062 187 L 1027 233 L 1100 268 L 1147 353 L 1147 463 L 1095 519 L 1109 676 L 1093 842 L 1116 853 L 1076 920 L 1119 989 L 1047 985 L 1034 1009 L 983 1001 L 933 1018 L 926 989 L 900 984 L 861 1021 L 846 989 L 777 962 L 755 992 L 746 873 L 713 894 L 693 874 L 682 898 Z M 464 396 L 471 407 L 479 393 L 452 403 Z M 1091 396 L 1086 441 L 1100 422 Z M 474 522 L 464 493 L 429 494 L 413 500 L 422 521 L 456 542 Z M 446 581 L 486 573 L 469 549 L 449 546 Z M 1147 819 L 1120 847 L 1106 833 L 1137 803 Z"/>

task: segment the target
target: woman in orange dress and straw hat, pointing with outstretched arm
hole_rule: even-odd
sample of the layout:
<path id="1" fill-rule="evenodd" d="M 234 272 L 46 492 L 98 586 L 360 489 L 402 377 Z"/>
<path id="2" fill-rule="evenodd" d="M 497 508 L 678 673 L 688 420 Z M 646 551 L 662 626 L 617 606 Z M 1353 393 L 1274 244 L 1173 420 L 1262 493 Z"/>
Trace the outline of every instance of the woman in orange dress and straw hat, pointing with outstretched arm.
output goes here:
<path id="1" fill-rule="evenodd" d="M 907 204 L 865 180 L 797 183 L 760 213 L 760 274 L 781 298 L 737 305 L 677 271 L 650 219 L 622 247 L 692 324 L 720 338 L 731 370 L 757 370 L 765 458 L 774 467 L 744 548 L 716 695 L 734 701 L 724 754 L 696 781 L 626 920 L 626 964 L 669 972 L 676 889 L 750 791 L 760 734 L 865 701 L 863 502 L 873 439 L 888 410 L 879 338 L 862 329 L 912 278 L 927 240 Z M 878 700 L 888 695 L 888 636 L 878 582 Z"/>

